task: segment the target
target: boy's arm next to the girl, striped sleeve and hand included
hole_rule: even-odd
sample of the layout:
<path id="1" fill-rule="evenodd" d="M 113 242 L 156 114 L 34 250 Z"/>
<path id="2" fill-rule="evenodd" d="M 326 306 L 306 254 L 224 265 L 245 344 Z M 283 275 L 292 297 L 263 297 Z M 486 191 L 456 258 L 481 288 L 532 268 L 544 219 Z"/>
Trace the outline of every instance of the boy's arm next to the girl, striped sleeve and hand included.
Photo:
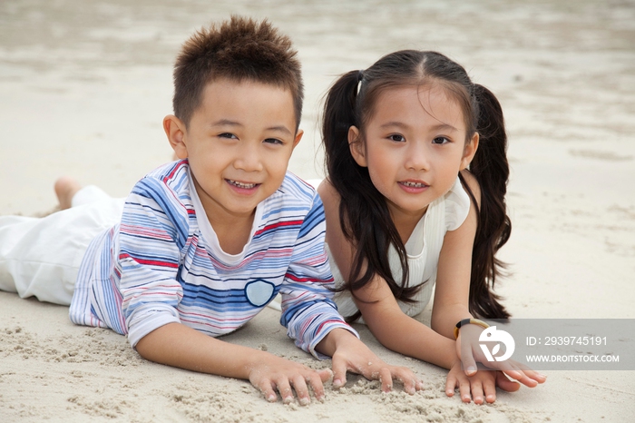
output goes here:
<path id="1" fill-rule="evenodd" d="M 337 312 L 333 301 L 333 277 L 324 248 L 326 225 L 324 207 L 318 196 L 299 231 L 294 259 L 288 268 L 282 294 L 280 323 L 287 326 L 288 336 L 299 348 L 333 359 L 333 385 L 346 384 L 347 371 L 366 379 L 380 379 L 382 389 L 389 391 L 393 379 L 401 380 L 409 393 L 421 389 L 415 374 L 402 367 L 389 366 L 358 339 Z"/>

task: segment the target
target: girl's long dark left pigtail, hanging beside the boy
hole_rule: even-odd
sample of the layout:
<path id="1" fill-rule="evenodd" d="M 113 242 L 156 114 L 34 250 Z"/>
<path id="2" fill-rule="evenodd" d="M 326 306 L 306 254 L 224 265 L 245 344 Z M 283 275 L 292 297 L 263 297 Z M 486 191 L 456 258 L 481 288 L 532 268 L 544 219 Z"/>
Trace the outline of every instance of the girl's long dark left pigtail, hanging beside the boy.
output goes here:
<path id="1" fill-rule="evenodd" d="M 364 93 L 365 84 L 362 71 L 342 75 L 327 93 L 323 114 L 322 138 L 328 180 L 340 196 L 342 231 L 356 247 L 347 283 L 337 290 L 350 290 L 355 296 L 356 290 L 377 275 L 386 280 L 396 299 L 413 302 L 411 298 L 421 287 L 405 288 L 408 276 L 405 246 L 396 231 L 386 199 L 376 190 L 367 168 L 355 162 L 348 145 L 348 129 L 361 127 L 357 95 Z M 395 245 L 404 270 L 401 283 L 396 283 L 390 270 L 388 249 L 391 244 Z M 355 321 L 360 316 L 357 311 L 347 320 Z"/>

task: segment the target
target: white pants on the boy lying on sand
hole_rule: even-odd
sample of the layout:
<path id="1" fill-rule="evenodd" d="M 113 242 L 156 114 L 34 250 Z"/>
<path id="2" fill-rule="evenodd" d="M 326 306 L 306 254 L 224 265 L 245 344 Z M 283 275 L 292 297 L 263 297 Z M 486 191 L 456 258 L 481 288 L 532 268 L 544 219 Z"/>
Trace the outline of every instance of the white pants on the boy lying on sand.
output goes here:
<path id="1" fill-rule="evenodd" d="M 88 244 L 121 221 L 123 202 L 87 186 L 72 208 L 44 218 L 0 216 L 0 290 L 71 304 Z"/>

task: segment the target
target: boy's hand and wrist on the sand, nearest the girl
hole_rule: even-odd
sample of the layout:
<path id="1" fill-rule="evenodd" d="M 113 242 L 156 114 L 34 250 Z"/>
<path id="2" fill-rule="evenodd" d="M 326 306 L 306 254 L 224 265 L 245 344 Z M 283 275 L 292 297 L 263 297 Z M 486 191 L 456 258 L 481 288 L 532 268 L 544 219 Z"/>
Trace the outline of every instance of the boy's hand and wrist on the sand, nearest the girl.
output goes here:
<path id="1" fill-rule="evenodd" d="M 347 383 L 347 371 L 352 371 L 366 379 L 381 381 L 384 392 L 393 388 L 393 379 L 400 380 L 404 384 L 404 390 L 411 395 L 423 389 L 421 381 L 412 370 L 386 364 L 348 330 L 331 330 L 318 348 L 325 354 L 333 349 L 328 355 L 333 358 L 334 388 L 342 388 Z"/>

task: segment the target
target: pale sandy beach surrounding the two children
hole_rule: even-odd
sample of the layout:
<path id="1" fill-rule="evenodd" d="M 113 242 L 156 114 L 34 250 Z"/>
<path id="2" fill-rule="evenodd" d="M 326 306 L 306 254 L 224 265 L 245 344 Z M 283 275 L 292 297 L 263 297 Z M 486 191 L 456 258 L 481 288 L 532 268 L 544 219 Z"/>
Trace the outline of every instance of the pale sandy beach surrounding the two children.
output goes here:
<path id="1" fill-rule="evenodd" d="M 635 1 L 354 2 L 281 0 L 0 3 L 0 214 L 56 205 L 71 175 L 124 196 L 168 162 L 171 66 L 195 30 L 230 14 L 268 17 L 298 48 L 306 135 L 289 169 L 321 178 L 320 101 L 338 74 L 402 48 L 464 64 L 503 104 L 512 167 L 510 275 L 497 292 L 514 318 L 635 319 Z M 266 309 L 224 339 L 311 368 Z M 418 319 L 427 321 L 430 309 Z M 110 330 L 74 326 L 68 308 L 0 292 L 0 421 L 614 422 L 635 416 L 635 370 L 559 370 L 493 405 L 445 396 L 447 371 L 385 349 L 425 389 L 350 375 L 308 407 L 270 404 L 248 381 L 142 359 Z"/>

